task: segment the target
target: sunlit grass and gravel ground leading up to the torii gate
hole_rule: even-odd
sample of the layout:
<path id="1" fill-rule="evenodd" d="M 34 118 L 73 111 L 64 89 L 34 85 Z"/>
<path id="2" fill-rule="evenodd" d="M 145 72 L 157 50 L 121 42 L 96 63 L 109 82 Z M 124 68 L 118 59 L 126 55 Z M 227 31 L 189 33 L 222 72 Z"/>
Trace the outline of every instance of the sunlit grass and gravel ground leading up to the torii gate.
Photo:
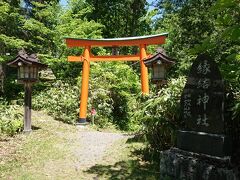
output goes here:
<path id="1" fill-rule="evenodd" d="M 32 119 L 31 134 L 0 137 L 0 179 L 159 179 L 131 135 L 64 124 L 44 112 Z"/>

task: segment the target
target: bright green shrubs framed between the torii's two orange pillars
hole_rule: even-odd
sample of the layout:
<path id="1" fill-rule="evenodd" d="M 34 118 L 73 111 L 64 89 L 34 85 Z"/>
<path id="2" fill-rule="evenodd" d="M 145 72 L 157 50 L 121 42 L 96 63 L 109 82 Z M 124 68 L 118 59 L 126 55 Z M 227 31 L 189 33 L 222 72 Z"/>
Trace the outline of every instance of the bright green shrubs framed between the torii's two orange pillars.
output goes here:
<path id="1" fill-rule="evenodd" d="M 134 129 L 130 115 L 140 92 L 139 81 L 138 75 L 127 64 L 94 63 L 91 66 L 88 112 L 96 109 L 95 123 L 102 127 L 110 123 L 120 129 Z"/>

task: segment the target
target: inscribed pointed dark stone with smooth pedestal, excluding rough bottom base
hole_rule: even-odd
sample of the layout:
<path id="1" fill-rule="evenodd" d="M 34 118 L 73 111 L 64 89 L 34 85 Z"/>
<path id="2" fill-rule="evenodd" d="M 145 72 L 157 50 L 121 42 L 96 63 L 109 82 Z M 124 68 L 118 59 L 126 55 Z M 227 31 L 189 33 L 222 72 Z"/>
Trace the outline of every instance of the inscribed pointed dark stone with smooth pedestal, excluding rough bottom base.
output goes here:
<path id="1" fill-rule="evenodd" d="M 192 65 L 181 97 L 181 118 L 177 147 L 212 156 L 230 156 L 231 138 L 225 133 L 224 82 L 216 63 L 206 55 Z"/>

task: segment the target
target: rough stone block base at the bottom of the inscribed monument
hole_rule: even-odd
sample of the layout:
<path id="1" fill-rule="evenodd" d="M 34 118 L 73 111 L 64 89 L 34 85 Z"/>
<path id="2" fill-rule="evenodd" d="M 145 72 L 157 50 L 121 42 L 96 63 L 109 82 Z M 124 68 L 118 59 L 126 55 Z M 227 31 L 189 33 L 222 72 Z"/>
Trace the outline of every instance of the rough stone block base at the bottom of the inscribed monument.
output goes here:
<path id="1" fill-rule="evenodd" d="M 160 180 L 239 180 L 230 157 L 214 157 L 171 148 L 160 158 Z"/>

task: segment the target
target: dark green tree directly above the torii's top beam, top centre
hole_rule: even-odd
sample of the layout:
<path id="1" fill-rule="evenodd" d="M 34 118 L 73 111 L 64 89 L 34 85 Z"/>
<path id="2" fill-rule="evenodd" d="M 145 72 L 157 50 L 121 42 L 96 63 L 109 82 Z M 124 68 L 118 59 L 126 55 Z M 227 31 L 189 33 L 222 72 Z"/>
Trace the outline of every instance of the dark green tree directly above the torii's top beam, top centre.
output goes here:
<path id="1" fill-rule="evenodd" d="M 105 38 L 143 35 L 150 30 L 144 21 L 146 0 L 88 0 L 93 11 L 88 18 L 105 26 Z"/>

